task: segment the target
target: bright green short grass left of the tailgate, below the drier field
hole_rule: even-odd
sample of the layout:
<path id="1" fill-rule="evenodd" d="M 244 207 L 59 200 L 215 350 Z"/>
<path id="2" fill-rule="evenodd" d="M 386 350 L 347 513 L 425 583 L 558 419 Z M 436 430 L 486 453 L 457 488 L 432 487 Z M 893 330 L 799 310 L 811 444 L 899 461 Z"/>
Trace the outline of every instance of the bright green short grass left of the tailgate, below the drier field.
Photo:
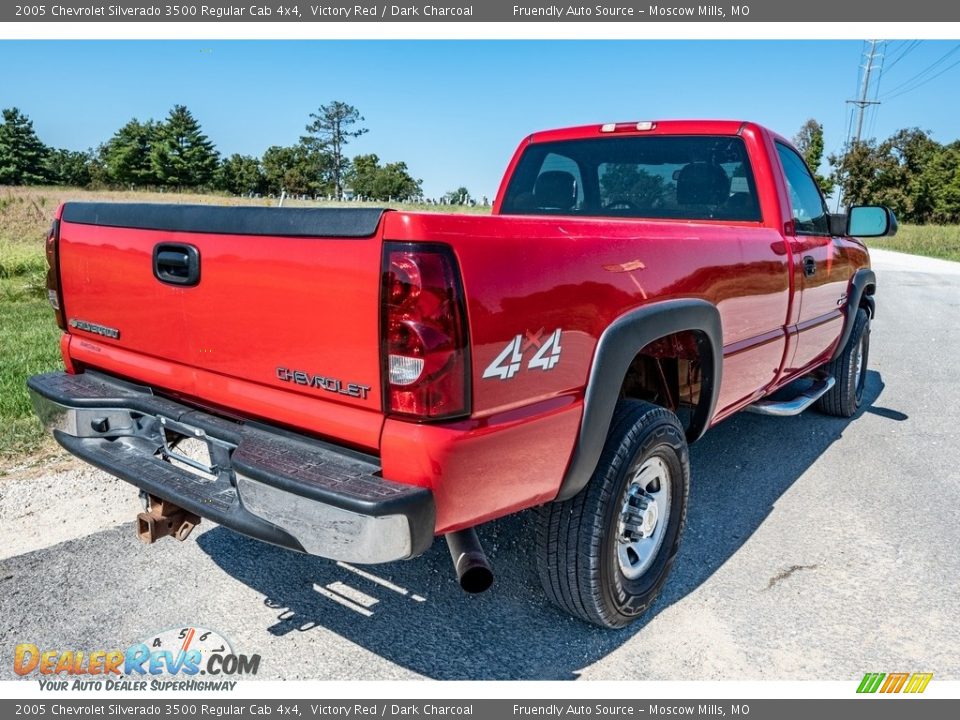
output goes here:
<path id="1" fill-rule="evenodd" d="M 46 433 L 33 415 L 27 377 L 62 367 L 60 330 L 36 278 L 0 280 L 0 458 L 38 449 Z"/>

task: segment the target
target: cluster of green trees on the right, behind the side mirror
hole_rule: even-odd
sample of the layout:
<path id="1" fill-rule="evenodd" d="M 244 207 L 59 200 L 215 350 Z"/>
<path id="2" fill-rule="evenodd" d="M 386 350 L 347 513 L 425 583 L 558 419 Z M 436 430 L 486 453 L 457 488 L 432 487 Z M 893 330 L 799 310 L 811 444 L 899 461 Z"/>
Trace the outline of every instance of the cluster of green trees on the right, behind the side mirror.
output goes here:
<path id="1" fill-rule="evenodd" d="M 825 194 L 835 189 L 844 205 L 886 205 L 902 222 L 960 223 L 960 140 L 939 143 L 920 128 L 898 130 L 885 140 L 860 140 L 827 158 L 820 175 L 823 126 L 804 123 L 794 137 Z"/>

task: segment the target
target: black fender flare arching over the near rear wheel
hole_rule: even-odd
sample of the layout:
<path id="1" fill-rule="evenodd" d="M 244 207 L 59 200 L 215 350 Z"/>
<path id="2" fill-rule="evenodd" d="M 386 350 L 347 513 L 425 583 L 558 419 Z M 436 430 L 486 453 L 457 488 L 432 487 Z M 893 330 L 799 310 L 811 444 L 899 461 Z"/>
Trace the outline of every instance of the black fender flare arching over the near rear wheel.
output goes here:
<path id="1" fill-rule="evenodd" d="M 557 501 L 567 500 L 586 486 L 600 460 L 613 411 L 630 363 L 654 340 L 695 331 L 701 358 L 700 403 L 687 429 L 693 442 L 707 430 L 717 404 L 723 368 L 720 312 L 706 300 L 664 300 L 631 310 L 614 320 L 597 342 L 583 399 L 580 434 Z"/>

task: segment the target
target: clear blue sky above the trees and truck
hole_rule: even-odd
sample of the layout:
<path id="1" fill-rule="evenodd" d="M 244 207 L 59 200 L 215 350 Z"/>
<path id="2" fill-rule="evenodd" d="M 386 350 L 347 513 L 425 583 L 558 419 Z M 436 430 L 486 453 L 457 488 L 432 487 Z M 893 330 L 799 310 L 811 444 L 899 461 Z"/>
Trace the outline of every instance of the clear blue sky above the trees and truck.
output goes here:
<path id="1" fill-rule="evenodd" d="M 958 47 L 887 46 L 879 96 L 891 97 L 865 136 L 919 126 L 960 138 Z M 815 117 L 827 151 L 839 149 L 862 50 L 860 40 L 0 41 L 0 107 L 26 112 L 47 144 L 82 150 L 184 104 L 221 153 L 260 155 L 296 142 L 308 114 L 339 99 L 370 129 L 349 154 L 406 161 L 429 196 L 466 185 L 492 198 L 517 143 L 565 125 L 735 118 L 792 136 Z"/>

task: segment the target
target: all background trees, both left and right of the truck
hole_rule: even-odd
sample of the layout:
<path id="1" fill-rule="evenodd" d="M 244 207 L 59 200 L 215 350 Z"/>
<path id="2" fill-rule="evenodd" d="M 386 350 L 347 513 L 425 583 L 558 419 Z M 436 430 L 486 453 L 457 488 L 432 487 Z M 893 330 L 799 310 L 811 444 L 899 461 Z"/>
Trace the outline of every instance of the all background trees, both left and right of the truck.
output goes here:
<path id="1" fill-rule="evenodd" d="M 422 196 L 422 181 L 405 162 L 383 163 L 373 154 L 349 158 L 346 147 L 368 132 L 360 112 L 333 101 L 310 114 L 293 145 L 273 145 L 261 157 L 222 157 L 199 121 L 175 105 L 162 121 L 131 119 L 109 140 L 87 151 L 52 148 L 17 108 L 0 123 L 0 185 L 65 185 L 87 188 L 217 190 L 233 195 L 310 195 L 338 200 L 351 191 L 370 200 L 405 201 Z M 885 140 L 849 143 L 827 158 L 821 174 L 823 126 L 807 120 L 794 144 L 826 195 L 839 192 L 846 205 L 887 205 L 904 222 L 960 223 L 960 140 L 942 144 L 919 128 Z M 465 187 L 444 202 L 474 202 Z"/>

